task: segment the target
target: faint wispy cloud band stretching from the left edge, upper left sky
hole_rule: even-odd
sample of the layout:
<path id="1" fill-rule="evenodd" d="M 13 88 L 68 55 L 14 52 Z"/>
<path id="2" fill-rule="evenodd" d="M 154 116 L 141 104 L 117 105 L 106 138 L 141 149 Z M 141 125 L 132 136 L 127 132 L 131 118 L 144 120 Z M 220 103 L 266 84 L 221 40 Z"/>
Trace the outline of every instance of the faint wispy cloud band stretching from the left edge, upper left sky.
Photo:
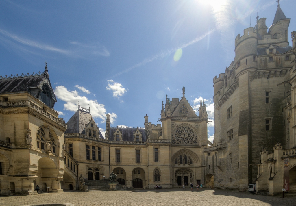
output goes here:
<path id="1" fill-rule="evenodd" d="M 89 56 L 110 56 L 110 52 L 107 48 L 99 43 L 82 44 L 78 41 L 72 41 L 68 42 L 67 49 L 62 49 L 49 44 L 23 38 L 0 28 L 0 43 L 4 44 L 4 42 L 10 46 L 14 46 L 20 51 L 30 52 L 35 55 L 42 55 L 38 52 L 42 50 L 76 58 L 89 58 Z"/>

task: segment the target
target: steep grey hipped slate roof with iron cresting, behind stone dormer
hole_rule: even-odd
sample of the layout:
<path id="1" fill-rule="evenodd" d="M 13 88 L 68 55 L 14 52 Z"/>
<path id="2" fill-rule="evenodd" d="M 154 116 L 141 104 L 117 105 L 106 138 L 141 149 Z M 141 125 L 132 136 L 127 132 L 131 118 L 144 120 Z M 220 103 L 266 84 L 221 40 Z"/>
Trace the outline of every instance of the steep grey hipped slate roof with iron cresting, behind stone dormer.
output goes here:
<path id="1" fill-rule="evenodd" d="M 89 112 L 78 109 L 75 114 L 67 122 L 67 130 L 65 133 L 80 133 L 85 134 L 85 125 L 88 124 L 92 119 Z M 98 131 L 100 138 L 104 139 L 104 136 Z"/>

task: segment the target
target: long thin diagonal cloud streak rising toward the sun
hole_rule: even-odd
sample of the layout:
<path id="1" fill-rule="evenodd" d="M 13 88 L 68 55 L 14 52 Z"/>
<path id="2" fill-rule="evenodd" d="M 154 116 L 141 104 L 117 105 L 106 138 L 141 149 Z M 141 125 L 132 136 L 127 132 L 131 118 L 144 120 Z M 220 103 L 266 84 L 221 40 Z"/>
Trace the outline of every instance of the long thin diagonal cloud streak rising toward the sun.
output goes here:
<path id="1" fill-rule="evenodd" d="M 189 41 L 189 42 L 187 42 L 187 43 L 181 44 L 181 45 L 178 46 L 178 47 L 174 47 L 174 48 L 168 49 L 168 50 L 166 50 L 166 51 L 161 51 L 160 53 L 155 54 L 155 55 L 153 55 L 153 56 L 151 56 L 151 57 L 149 57 L 149 58 L 146 58 L 146 59 L 144 59 L 143 61 L 141 61 L 140 63 L 138 63 L 138 64 L 136 64 L 136 65 L 133 65 L 132 67 L 129 67 L 128 69 L 123 70 L 123 71 L 121 71 L 121 72 L 115 74 L 115 75 L 112 76 L 112 77 L 116 77 L 116 76 L 118 76 L 118 75 L 122 75 L 123 73 L 127 73 L 127 72 L 129 72 L 129 71 L 131 71 L 131 70 L 133 70 L 133 69 L 135 69 L 135 68 L 137 68 L 137 67 L 144 66 L 144 65 L 146 65 L 147 63 L 152 62 L 152 61 L 154 61 L 154 60 L 157 60 L 157 59 L 163 59 L 163 58 L 167 57 L 168 55 L 173 54 L 175 51 L 177 51 L 177 49 L 180 49 L 180 48 L 183 49 L 183 48 L 185 48 L 185 47 L 187 47 L 187 46 L 190 46 L 190 45 L 192 45 L 192 44 L 195 44 L 195 43 L 199 42 L 200 40 L 202 40 L 203 38 L 205 38 L 205 37 L 206 37 L 207 35 L 209 35 L 210 33 L 213 33 L 213 31 L 214 31 L 214 29 L 208 31 L 207 33 L 203 34 L 202 36 L 198 36 L 197 38 L 193 39 L 192 41 Z"/>

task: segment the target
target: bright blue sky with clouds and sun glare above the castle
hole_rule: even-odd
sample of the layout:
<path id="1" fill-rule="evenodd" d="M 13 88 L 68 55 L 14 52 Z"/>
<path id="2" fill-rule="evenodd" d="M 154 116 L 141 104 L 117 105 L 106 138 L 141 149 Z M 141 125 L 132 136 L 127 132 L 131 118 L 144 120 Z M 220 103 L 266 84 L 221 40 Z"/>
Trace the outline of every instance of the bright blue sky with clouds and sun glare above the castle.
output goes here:
<path id="1" fill-rule="evenodd" d="M 160 118 L 165 95 L 185 96 L 194 109 L 205 99 L 213 120 L 213 78 L 234 59 L 234 39 L 271 26 L 275 0 L 0 1 L 0 75 L 44 71 L 65 121 L 90 103 L 102 131 Z M 296 30 L 295 0 L 281 0 Z M 290 42 L 291 45 L 291 42 Z M 214 120 L 208 125 L 213 140 Z"/>

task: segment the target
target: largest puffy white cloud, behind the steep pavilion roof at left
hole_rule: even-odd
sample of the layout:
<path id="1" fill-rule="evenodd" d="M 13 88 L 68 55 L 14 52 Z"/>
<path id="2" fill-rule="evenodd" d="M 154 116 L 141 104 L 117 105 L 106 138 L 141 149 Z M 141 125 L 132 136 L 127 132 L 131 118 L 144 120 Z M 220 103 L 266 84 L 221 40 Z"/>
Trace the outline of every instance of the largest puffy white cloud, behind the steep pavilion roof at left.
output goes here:
<path id="1" fill-rule="evenodd" d="M 76 112 L 78 110 L 78 102 L 81 107 L 88 108 L 90 104 L 90 112 L 94 118 L 100 118 L 101 123 L 106 121 L 106 114 L 110 115 L 110 123 L 113 124 L 117 118 L 115 113 L 107 113 L 104 104 L 100 104 L 96 99 L 87 99 L 85 96 L 80 96 L 77 91 L 69 91 L 65 86 L 57 86 L 54 89 L 54 94 L 58 99 L 65 101 L 64 110 Z"/>

